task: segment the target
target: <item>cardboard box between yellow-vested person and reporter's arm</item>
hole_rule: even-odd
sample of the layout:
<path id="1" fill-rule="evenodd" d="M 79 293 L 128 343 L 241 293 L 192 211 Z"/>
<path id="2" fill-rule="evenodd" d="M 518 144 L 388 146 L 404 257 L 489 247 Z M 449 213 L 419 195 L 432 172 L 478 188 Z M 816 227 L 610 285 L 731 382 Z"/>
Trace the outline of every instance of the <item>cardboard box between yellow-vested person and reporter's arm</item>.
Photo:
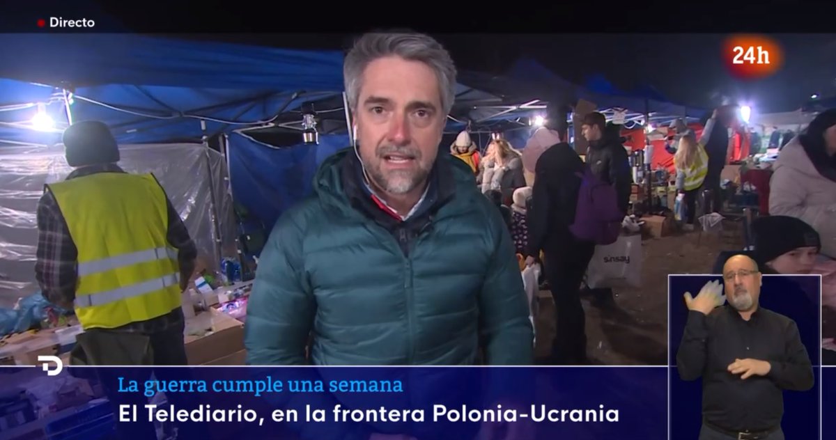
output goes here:
<path id="1" fill-rule="evenodd" d="M 189 365 L 203 365 L 244 350 L 243 323 L 214 309 L 186 321 L 184 337 Z"/>

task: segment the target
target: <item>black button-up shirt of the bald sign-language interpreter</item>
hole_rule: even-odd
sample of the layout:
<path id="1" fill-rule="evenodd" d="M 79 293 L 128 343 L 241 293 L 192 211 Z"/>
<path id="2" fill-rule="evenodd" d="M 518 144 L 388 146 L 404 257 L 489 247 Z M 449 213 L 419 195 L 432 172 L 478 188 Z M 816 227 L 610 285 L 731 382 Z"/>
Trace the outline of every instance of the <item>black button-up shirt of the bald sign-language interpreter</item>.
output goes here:
<path id="1" fill-rule="evenodd" d="M 767 376 L 742 380 L 728 371 L 736 359 L 747 358 L 769 362 Z M 813 367 L 795 322 L 760 307 L 749 321 L 732 306 L 708 316 L 689 311 L 676 369 L 686 381 L 702 377 L 703 420 L 737 432 L 779 426 L 782 390 L 813 387 Z"/>

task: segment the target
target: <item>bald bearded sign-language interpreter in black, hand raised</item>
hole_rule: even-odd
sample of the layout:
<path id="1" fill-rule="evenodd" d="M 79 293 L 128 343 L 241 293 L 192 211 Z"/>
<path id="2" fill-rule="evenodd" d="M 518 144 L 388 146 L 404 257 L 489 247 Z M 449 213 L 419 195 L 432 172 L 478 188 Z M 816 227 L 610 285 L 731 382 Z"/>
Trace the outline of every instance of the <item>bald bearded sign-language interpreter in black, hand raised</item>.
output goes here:
<path id="1" fill-rule="evenodd" d="M 813 367 L 795 322 L 758 306 L 762 276 L 735 255 L 716 281 L 685 294 L 688 321 L 676 355 L 682 380 L 702 377 L 700 440 L 783 440 L 783 390 L 813 387 Z"/>

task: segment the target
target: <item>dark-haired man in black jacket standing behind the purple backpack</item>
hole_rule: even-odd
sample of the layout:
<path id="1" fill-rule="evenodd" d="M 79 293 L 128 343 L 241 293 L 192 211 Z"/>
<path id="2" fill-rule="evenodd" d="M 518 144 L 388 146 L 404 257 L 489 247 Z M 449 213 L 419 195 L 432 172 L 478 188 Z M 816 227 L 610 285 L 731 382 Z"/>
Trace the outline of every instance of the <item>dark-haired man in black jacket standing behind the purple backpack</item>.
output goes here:
<path id="1" fill-rule="evenodd" d="M 615 185 L 619 210 L 627 215 L 633 174 L 630 158 L 619 134 L 620 125 L 608 125 L 604 114 L 594 112 L 584 116 L 582 130 L 584 138 L 589 141 L 586 163 L 600 180 Z M 601 306 L 609 306 L 614 301 L 612 289 L 590 289 L 590 293 L 593 294 L 593 301 Z"/>

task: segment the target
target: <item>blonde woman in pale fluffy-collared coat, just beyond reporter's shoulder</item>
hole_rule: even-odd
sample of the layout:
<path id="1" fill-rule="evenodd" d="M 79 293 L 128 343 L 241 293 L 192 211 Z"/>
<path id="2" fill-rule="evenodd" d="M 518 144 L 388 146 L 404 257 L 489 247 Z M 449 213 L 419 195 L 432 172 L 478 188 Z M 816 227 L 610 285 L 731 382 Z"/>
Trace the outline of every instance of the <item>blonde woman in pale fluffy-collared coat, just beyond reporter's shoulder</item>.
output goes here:
<path id="1" fill-rule="evenodd" d="M 511 205 L 514 191 L 526 186 L 522 154 L 505 139 L 492 140 L 481 165 L 477 182 L 482 185 L 482 193 L 501 191 L 503 203 Z"/>

